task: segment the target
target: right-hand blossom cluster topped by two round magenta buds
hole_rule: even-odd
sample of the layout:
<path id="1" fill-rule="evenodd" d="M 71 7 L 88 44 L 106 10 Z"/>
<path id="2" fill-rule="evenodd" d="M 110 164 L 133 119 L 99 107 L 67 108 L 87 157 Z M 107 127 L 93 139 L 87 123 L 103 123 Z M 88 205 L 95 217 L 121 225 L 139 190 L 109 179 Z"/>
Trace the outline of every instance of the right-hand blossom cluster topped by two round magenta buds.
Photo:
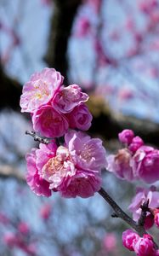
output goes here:
<path id="1" fill-rule="evenodd" d="M 119 133 L 119 141 L 124 148 L 107 157 L 108 171 L 129 182 L 140 179 L 145 183 L 154 183 L 159 180 L 158 149 L 146 146 L 132 130 Z"/>

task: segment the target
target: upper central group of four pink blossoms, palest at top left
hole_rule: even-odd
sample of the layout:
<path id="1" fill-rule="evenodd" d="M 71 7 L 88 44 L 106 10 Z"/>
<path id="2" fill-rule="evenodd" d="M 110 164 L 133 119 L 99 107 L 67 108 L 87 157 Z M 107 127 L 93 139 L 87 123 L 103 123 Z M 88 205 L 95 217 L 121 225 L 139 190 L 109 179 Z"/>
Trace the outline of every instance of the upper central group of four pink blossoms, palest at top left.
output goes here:
<path id="1" fill-rule="evenodd" d="M 71 129 L 87 131 L 92 115 L 85 102 L 88 95 L 77 84 L 67 87 L 54 68 L 34 73 L 20 97 L 21 112 L 31 113 L 34 131 L 46 137 L 62 137 Z"/>

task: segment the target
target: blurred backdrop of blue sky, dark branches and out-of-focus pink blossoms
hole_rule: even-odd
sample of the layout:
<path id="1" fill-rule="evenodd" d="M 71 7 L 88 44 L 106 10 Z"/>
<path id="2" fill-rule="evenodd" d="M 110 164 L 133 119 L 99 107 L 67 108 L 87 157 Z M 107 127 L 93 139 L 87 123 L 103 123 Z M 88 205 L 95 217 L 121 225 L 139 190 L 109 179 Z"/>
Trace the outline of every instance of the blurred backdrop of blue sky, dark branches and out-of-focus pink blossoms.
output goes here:
<path id="1" fill-rule="evenodd" d="M 0 256 L 132 255 L 122 248 L 128 227 L 98 194 L 30 191 L 25 154 L 36 144 L 25 135 L 31 120 L 20 95 L 32 73 L 54 67 L 90 96 L 89 133 L 108 153 L 120 148 L 122 129 L 158 147 L 158 35 L 157 0 L 0 0 Z M 103 172 L 103 187 L 126 212 L 135 185 Z"/>

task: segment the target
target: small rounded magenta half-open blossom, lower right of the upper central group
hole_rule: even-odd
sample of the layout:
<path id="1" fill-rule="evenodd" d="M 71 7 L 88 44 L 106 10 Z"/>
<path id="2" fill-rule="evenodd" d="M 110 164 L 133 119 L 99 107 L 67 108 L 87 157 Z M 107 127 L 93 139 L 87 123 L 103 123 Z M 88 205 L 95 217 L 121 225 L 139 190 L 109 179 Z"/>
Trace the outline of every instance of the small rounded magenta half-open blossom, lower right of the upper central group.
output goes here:
<path id="1" fill-rule="evenodd" d="M 90 128 L 93 119 L 88 107 L 83 103 L 67 114 L 67 118 L 71 129 L 77 128 L 82 131 L 87 131 Z"/>

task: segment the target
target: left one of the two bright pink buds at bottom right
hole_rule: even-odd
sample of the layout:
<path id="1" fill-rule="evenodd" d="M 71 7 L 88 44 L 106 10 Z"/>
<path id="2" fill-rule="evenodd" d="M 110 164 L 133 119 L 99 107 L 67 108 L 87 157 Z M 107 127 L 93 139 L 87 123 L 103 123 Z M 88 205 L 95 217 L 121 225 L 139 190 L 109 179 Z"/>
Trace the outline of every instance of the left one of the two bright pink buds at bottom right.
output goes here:
<path id="1" fill-rule="evenodd" d="M 139 239 L 139 235 L 133 230 L 126 230 L 122 233 L 122 244 L 128 248 L 129 251 L 133 251 L 133 246 Z"/>

